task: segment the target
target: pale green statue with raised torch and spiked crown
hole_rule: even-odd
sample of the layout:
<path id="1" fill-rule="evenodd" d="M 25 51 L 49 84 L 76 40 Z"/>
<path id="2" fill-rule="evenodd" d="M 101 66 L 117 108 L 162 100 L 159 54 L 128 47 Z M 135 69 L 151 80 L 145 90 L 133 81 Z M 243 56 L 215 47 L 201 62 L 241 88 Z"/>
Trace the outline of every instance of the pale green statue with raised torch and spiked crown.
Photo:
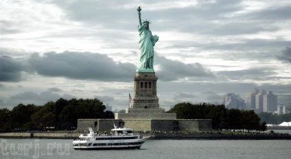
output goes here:
<path id="1" fill-rule="evenodd" d="M 141 51 L 137 71 L 154 72 L 154 44 L 159 40 L 159 36 L 152 36 L 149 29 L 150 21 L 141 23 L 141 6 L 137 8 L 137 13 L 139 14 L 139 50 Z"/>

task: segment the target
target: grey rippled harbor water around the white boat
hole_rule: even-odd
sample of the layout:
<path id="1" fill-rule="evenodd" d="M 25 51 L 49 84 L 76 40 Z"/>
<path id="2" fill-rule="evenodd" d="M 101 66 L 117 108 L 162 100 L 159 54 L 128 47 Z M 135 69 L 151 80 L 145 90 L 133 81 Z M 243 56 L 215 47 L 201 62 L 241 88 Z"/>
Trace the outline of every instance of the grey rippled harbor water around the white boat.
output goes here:
<path id="1" fill-rule="evenodd" d="M 147 140 L 141 149 L 74 150 L 68 139 L 0 138 L 0 158 L 290 158 L 291 140 Z"/>

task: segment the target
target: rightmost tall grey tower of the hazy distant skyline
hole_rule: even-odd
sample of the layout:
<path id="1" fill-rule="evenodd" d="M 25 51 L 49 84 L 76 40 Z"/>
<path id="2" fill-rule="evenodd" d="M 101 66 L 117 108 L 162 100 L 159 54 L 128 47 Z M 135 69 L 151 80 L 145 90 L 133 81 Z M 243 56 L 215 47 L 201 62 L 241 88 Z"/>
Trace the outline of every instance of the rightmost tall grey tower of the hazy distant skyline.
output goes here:
<path id="1" fill-rule="evenodd" d="M 272 94 L 272 91 L 268 91 L 263 96 L 263 111 L 275 112 L 277 111 L 277 95 Z"/>

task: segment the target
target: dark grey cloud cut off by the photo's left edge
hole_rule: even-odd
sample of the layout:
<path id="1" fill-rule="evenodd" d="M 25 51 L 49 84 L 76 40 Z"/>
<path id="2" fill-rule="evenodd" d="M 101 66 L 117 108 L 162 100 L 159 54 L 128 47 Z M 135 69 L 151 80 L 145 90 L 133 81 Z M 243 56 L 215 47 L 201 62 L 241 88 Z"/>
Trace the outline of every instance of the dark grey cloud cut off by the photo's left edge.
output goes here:
<path id="1" fill-rule="evenodd" d="M 21 71 L 30 71 L 25 61 L 11 56 L 0 56 L 0 81 L 19 82 L 21 81 Z"/>

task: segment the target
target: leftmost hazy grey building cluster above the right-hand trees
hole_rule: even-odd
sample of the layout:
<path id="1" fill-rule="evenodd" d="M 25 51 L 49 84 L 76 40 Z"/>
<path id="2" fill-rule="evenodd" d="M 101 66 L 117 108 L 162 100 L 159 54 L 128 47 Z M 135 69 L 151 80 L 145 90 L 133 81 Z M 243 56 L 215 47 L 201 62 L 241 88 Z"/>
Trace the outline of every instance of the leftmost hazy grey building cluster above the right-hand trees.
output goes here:
<path id="1" fill-rule="evenodd" d="M 225 108 L 234 109 L 244 109 L 244 99 L 240 95 L 235 95 L 235 93 L 227 93 L 224 96 L 223 104 Z"/>

